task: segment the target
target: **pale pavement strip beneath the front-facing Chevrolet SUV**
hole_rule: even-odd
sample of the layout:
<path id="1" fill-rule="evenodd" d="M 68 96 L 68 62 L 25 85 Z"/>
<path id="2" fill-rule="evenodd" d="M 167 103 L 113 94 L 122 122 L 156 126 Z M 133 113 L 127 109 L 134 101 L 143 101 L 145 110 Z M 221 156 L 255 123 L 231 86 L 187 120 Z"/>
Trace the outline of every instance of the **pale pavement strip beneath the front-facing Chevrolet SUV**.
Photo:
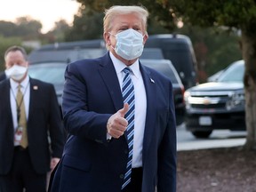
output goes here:
<path id="1" fill-rule="evenodd" d="M 245 143 L 246 132 L 230 132 L 228 130 L 213 131 L 208 139 L 196 139 L 186 131 L 184 124 L 177 127 L 177 149 L 193 150 L 201 148 L 226 148 L 242 146 Z"/>

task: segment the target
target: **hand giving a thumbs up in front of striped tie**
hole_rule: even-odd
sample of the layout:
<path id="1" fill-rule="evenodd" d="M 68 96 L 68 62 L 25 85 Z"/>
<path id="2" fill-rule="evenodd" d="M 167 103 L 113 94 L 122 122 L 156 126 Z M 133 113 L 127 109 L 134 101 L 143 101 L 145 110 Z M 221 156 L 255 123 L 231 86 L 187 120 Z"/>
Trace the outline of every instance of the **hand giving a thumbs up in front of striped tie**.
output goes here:
<path id="1" fill-rule="evenodd" d="M 126 127 L 128 125 L 128 122 L 124 118 L 124 115 L 127 113 L 128 110 L 128 103 L 124 103 L 124 108 L 121 108 L 116 112 L 116 114 L 109 117 L 107 131 L 111 137 L 118 139 L 124 134 L 124 131 L 126 130 Z"/>

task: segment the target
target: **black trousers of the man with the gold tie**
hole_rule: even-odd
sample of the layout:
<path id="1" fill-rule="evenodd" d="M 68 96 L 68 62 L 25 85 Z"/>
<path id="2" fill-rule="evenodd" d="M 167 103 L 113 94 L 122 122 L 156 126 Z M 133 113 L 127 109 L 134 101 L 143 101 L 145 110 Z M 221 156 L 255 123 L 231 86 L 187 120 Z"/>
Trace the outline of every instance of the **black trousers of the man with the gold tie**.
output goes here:
<path id="1" fill-rule="evenodd" d="M 28 154 L 28 148 L 15 147 L 12 170 L 7 175 L 0 176 L 0 192 L 45 192 L 46 173 L 34 171 Z"/>

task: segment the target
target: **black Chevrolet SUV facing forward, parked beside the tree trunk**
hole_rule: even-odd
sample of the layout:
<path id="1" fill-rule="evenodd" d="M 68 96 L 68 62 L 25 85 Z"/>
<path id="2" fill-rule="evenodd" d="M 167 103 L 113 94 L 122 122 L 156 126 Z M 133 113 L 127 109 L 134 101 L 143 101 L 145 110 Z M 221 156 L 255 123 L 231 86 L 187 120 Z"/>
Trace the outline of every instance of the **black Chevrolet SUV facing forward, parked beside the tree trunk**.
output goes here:
<path id="1" fill-rule="evenodd" d="M 191 87 L 184 93 L 185 124 L 196 138 L 208 138 L 213 130 L 245 130 L 244 60 L 223 70 L 216 80 Z"/>

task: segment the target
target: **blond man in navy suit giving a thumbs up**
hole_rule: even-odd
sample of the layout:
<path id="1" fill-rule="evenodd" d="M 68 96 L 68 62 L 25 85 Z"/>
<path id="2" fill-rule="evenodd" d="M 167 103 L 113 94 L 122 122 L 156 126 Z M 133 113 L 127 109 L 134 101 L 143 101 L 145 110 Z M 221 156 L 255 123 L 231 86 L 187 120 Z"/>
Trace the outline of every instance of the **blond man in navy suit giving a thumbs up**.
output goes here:
<path id="1" fill-rule="evenodd" d="M 176 191 L 172 83 L 139 60 L 147 19 L 142 6 L 110 7 L 108 52 L 68 64 L 62 109 L 69 136 L 49 191 Z"/>

